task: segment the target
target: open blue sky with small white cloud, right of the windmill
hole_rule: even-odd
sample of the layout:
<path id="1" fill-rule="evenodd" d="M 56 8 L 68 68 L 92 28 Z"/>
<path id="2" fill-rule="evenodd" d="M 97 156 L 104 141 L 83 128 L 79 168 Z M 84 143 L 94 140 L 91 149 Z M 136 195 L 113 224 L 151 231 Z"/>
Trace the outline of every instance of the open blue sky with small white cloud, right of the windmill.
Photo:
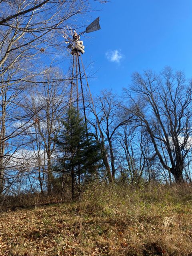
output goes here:
<path id="1" fill-rule="evenodd" d="M 192 0 L 92 1 L 92 20 L 100 16 L 101 30 L 81 38 L 92 92 L 111 88 L 118 93 L 134 71 L 164 66 L 192 76 Z"/>

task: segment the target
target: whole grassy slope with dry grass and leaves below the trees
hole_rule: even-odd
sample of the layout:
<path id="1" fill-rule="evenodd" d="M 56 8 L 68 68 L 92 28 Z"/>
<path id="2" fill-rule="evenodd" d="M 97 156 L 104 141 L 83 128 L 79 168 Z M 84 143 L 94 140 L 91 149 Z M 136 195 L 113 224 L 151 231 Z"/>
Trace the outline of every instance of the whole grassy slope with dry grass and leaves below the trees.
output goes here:
<path id="1" fill-rule="evenodd" d="M 192 187 L 102 184 L 80 202 L 1 213 L 3 255 L 192 256 Z"/>

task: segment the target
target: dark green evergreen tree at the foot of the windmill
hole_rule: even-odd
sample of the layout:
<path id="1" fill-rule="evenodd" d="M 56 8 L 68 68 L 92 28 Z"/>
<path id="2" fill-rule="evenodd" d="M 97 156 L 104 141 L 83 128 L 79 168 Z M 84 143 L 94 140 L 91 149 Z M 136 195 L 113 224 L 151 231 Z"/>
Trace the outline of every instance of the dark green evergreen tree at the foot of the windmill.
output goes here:
<path id="1" fill-rule="evenodd" d="M 68 110 L 66 121 L 62 122 L 62 130 L 58 136 L 57 145 L 62 157 L 59 159 L 59 169 L 70 172 L 72 199 L 75 184 L 80 184 L 82 177 L 88 179 L 100 166 L 101 148 L 92 133 L 88 133 L 84 119 L 76 108 Z"/>

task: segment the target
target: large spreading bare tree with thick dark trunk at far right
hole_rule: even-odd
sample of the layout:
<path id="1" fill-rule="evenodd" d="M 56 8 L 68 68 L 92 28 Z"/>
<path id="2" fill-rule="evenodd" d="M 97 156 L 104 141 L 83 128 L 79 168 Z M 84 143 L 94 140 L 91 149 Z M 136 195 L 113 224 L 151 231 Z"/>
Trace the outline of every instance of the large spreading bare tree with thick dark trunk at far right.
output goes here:
<path id="1" fill-rule="evenodd" d="M 149 134 L 162 167 L 183 182 L 184 162 L 191 151 L 192 81 L 167 67 L 159 75 L 134 73 L 130 108 Z"/>

